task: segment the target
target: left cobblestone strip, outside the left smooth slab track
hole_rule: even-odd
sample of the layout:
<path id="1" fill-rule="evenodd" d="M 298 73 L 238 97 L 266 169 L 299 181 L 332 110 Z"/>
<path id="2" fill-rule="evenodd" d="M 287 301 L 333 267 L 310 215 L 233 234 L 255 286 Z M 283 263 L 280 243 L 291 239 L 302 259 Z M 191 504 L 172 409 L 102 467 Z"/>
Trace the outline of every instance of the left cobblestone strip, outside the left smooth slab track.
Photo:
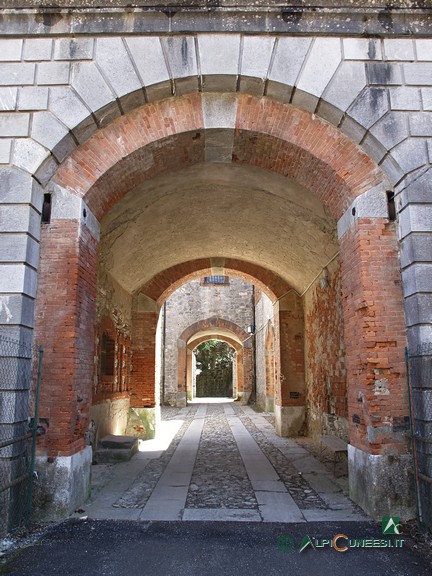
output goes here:
<path id="1" fill-rule="evenodd" d="M 135 478 L 132 486 L 113 504 L 114 508 L 143 508 L 145 506 L 168 462 L 171 460 L 171 456 L 179 445 L 183 434 L 194 419 L 197 410 L 198 408 L 196 406 L 189 409 L 185 421 L 174 436 L 169 448 L 160 458 L 155 458 L 148 462 L 142 473 Z M 164 410 L 162 410 L 162 419 L 173 420 L 179 411 L 179 408 L 164 408 Z"/>

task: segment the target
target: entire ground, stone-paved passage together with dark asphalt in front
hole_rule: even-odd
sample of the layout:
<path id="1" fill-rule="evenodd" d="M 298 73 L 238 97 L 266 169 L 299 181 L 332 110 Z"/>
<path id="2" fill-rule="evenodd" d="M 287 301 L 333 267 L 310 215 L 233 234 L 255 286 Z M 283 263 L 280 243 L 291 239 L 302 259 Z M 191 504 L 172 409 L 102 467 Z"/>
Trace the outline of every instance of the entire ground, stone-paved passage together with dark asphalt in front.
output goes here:
<path id="1" fill-rule="evenodd" d="M 165 437 L 95 466 L 85 510 L 8 555 L 0 574 L 432 575 L 409 539 L 383 536 L 349 500 L 346 477 L 269 419 L 233 403 L 168 409 Z M 329 544 L 337 534 L 345 551 Z"/>

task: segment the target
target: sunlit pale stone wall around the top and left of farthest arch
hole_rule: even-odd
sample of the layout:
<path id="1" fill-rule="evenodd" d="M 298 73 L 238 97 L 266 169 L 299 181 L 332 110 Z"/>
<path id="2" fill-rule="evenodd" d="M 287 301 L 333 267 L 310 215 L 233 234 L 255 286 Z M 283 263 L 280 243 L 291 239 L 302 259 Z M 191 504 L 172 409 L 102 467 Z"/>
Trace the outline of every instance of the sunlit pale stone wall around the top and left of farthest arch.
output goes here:
<path id="1" fill-rule="evenodd" d="M 243 330 L 253 323 L 252 285 L 230 278 L 228 285 L 189 282 L 166 301 L 165 402 L 177 393 L 178 338 L 191 324 L 217 317 Z M 170 400 L 171 399 L 171 400 Z"/>

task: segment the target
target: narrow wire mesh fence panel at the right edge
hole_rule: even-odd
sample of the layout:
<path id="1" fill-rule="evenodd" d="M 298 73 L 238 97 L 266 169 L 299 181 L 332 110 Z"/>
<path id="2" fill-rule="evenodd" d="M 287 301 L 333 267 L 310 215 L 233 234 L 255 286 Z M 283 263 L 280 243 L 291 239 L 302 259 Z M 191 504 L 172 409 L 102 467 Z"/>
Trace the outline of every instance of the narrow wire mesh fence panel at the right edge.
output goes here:
<path id="1" fill-rule="evenodd" d="M 432 530 L 432 342 L 406 351 L 417 516 Z"/>

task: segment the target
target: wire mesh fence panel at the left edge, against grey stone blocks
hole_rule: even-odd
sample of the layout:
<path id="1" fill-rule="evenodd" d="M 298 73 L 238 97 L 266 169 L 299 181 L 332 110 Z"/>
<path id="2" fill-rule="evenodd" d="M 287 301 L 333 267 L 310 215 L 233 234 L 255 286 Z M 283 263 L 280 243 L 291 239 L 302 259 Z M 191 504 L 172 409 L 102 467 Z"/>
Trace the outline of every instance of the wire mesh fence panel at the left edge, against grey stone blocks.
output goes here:
<path id="1" fill-rule="evenodd" d="M 0 335 L 0 537 L 31 514 L 42 356 Z"/>

